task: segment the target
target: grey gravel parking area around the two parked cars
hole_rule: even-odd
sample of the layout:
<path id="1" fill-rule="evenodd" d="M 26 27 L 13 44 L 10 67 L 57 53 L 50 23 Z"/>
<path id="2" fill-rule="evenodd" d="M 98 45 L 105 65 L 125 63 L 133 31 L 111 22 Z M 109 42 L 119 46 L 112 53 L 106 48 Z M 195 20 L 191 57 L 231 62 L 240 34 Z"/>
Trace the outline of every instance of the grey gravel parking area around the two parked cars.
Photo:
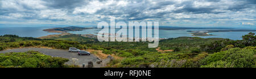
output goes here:
<path id="1" fill-rule="evenodd" d="M 43 53 L 44 55 L 49 55 L 53 57 L 63 57 L 69 59 L 69 61 L 65 64 L 77 64 L 82 66 L 82 64 L 87 65 L 89 61 L 93 61 L 93 65 L 96 68 L 102 67 L 101 64 L 97 64 L 96 61 L 99 59 L 93 54 L 90 55 L 77 55 L 77 52 L 68 52 L 68 50 L 64 49 L 47 49 L 47 48 L 15 48 L 15 49 L 7 49 L 4 51 L 0 51 L 0 53 L 9 53 L 9 52 L 27 52 L 27 51 L 38 51 Z"/>

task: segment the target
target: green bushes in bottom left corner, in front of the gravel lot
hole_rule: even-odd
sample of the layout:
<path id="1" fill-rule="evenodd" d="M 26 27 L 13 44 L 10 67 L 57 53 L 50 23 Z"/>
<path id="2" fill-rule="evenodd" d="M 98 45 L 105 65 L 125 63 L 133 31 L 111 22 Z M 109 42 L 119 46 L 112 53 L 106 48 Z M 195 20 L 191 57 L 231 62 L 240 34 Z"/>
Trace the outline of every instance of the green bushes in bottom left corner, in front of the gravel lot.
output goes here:
<path id="1" fill-rule="evenodd" d="M 67 61 L 35 51 L 0 54 L 0 68 L 62 68 Z"/>

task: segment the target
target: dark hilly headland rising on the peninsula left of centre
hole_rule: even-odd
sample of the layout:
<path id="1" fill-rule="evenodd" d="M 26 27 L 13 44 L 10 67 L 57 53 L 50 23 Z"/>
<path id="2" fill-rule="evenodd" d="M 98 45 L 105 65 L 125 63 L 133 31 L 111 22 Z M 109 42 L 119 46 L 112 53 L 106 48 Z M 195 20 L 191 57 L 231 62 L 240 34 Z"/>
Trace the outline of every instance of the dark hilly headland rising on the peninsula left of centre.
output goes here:
<path id="1" fill-rule="evenodd" d="M 92 29 L 94 27 L 75 27 L 75 26 L 70 26 L 70 27 L 57 27 L 57 28 L 49 28 L 43 31 L 46 32 L 56 32 L 56 33 L 63 33 L 63 32 L 69 32 L 69 31 L 82 31 L 86 29 Z"/>

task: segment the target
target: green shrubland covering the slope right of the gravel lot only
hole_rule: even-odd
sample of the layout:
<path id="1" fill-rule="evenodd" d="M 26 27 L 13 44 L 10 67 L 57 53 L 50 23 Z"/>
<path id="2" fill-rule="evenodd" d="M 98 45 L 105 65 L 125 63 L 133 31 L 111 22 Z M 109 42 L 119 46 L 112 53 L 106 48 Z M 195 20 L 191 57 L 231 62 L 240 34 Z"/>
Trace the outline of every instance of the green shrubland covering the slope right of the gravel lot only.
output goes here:
<path id="1" fill-rule="evenodd" d="M 255 68 L 255 34 L 242 36 L 243 40 L 175 38 L 161 40 L 159 47 L 174 49 L 160 53 L 148 51 L 113 61 L 112 67 L 175 67 L 175 68 Z M 136 50 L 135 50 L 136 51 Z M 137 53 L 141 53 L 138 51 Z M 128 55 L 128 54 L 127 54 Z"/>

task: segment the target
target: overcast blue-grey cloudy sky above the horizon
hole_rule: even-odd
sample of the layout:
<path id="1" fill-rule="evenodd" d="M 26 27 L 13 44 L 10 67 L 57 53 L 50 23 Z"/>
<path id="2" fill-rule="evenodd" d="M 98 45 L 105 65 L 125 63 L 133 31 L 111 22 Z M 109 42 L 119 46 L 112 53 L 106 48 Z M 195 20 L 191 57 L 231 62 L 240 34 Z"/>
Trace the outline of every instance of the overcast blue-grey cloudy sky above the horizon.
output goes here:
<path id="1" fill-rule="evenodd" d="M 97 26 L 111 17 L 160 26 L 255 27 L 255 7 L 255 0 L 1 0 L 0 27 Z"/>

